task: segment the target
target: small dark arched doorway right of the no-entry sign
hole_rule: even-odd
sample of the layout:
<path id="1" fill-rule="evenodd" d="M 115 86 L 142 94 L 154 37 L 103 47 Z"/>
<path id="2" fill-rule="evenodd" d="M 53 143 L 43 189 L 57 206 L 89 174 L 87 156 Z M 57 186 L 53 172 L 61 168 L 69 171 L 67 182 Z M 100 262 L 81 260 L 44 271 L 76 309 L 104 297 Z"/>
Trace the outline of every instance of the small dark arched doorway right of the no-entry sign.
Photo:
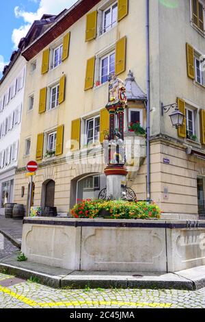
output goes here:
<path id="1" fill-rule="evenodd" d="M 44 210 L 45 207 L 54 207 L 55 201 L 55 181 L 52 179 L 46 180 L 42 184 L 42 198 L 41 206 Z"/>

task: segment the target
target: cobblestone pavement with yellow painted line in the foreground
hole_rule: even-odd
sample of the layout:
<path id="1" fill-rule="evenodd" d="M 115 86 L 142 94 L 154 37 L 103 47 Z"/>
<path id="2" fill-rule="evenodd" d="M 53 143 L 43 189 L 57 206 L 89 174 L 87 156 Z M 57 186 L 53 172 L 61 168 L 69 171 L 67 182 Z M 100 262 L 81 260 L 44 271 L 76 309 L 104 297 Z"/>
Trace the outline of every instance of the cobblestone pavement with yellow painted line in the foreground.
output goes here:
<path id="1" fill-rule="evenodd" d="M 205 308 L 205 288 L 55 289 L 0 274 L 0 308 Z"/>

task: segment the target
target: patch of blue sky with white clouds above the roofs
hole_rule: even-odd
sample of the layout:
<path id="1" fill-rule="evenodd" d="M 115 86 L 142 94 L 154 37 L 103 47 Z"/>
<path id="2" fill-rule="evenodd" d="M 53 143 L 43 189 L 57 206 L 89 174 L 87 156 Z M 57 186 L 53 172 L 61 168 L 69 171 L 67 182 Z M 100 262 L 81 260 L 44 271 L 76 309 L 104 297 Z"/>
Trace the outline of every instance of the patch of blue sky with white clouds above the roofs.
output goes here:
<path id="1" fill-rule="evenodd" d="M 12 51 L 18 47 L 34 20 L 43 14 L 59 14 L 77 0 L 1 0 L 0 19 L 0 78 L 3 66 L 10 62 Z"/>

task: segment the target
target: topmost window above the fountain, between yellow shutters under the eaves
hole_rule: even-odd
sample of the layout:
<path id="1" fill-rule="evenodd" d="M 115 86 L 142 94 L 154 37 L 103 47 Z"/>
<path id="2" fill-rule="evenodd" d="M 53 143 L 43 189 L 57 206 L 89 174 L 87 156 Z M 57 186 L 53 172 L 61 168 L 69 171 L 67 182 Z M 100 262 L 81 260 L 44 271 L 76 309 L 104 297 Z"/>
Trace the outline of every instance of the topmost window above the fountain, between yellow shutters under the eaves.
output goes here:
<path id="1" fill-rule="evenodd" d="M 114 3 L 103 11 L 102 34 L 108 32 L 118 21 L 118 3 Z"/>

